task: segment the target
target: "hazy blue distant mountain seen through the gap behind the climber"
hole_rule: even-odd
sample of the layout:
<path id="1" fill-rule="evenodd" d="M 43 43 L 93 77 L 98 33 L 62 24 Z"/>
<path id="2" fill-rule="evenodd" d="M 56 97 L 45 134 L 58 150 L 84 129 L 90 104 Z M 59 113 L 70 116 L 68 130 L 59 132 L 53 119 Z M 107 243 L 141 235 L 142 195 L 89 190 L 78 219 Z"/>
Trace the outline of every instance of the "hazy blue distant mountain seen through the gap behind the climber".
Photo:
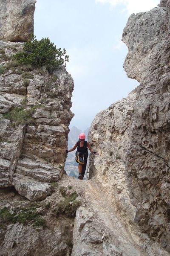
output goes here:
<path id="1" fill-rule="evenodd" d="M 68 150 L 73 148 L 74 145 L 77 143 L 80 133 L 84 133 L 86 137 L 85 140 L 88 140 L 88 131 L 89 128 L 87 128 L 85 131 L 81 131 L 76 126 L 73 126 L 68 134 Z M 76 149 L 68 153 L 68 157 L 65 162 L 65 171 L 67 172 L 67 175 L 77 177 L 78 164 L 75 161 L 75 152 Z"/>

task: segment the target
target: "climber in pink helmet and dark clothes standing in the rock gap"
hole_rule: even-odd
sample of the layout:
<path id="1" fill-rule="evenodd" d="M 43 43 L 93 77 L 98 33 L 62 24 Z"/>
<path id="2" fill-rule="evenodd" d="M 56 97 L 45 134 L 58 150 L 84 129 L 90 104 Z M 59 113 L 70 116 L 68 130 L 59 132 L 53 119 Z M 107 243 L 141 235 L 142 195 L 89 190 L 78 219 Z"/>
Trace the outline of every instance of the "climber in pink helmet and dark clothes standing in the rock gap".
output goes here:
<path id="1" fill-rule="evenodd" d="M 79 134 L 79 140 L 74 145 L 74 147 L 69 149 L 69 150 L 66 148 L 65 151 L 66 151 L 66 153 L 74 151 L 76 149 L 76 147 L 77 147 L 76 162 L 79 163 L 79 165 L 78 165 L 78 170 L 79 170 L 78 178 L 80 180 L 82 180 L 84 175 L 85 175 L 85 169 L 86 169 L 86 166 L 87 166 L 88 148 L 91 151 L 91 153 L 93 153 L 93 154 L 97 154 L 97 152 L 93 151 L 90 144 L 85 140 L 85 134 L 83 134 L 83 133 Z"/>

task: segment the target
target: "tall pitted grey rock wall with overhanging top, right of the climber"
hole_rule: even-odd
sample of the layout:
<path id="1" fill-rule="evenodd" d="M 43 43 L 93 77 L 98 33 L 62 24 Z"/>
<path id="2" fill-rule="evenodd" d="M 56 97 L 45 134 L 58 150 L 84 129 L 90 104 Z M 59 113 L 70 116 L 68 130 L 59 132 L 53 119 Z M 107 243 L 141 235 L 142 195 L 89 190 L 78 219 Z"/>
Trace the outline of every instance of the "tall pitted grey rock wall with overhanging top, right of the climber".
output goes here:
<path id="1" fill-rule="evenodd" d="M 170 1 L 131 15 L 124 67 L 140 85 L 98 113 L 89 140 L 94 175 L 120 215 L 170 252 Z M 93 162 L 92 161 L 92 162 Z"/>

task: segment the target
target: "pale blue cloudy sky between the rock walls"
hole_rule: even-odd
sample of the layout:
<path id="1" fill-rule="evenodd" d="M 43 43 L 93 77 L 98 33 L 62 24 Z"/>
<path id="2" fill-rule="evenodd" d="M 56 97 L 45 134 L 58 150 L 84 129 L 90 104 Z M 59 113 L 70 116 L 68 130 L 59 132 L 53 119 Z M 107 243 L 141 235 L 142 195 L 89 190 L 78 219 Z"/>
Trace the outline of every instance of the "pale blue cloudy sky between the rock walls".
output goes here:
<path id="1" fill-rule="evenodd" d="M 49 38 L 69 55 L 74 79 L 69 128 L 84 131 L 99 111 L 125 98 L 139 85 L 127 78 L 122 32 L 132 13 L 147 12 L 160 0 L 37 0 L 34 35 Z"/>

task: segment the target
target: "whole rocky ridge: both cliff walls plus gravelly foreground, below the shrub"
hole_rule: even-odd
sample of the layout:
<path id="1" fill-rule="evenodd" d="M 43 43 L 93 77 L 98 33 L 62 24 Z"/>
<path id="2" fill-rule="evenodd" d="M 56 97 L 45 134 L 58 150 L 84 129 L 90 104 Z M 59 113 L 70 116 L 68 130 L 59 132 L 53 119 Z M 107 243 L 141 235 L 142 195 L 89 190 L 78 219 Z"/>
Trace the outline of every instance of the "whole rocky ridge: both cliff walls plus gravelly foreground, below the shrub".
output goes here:
<path id="1" fill-rule="evenodd" d="M 63 175 L 73 79 L 9 66 L 22 44 L 0 41 L 1 256 L 170 255 L 169 6 L 127 22 L 125 70 L 141 84 L 92 122 L 87 181 Z M 14 109 L 24 123 L 4 116 Z M 38 219 L 19 218 L 27 211 Z"/>

